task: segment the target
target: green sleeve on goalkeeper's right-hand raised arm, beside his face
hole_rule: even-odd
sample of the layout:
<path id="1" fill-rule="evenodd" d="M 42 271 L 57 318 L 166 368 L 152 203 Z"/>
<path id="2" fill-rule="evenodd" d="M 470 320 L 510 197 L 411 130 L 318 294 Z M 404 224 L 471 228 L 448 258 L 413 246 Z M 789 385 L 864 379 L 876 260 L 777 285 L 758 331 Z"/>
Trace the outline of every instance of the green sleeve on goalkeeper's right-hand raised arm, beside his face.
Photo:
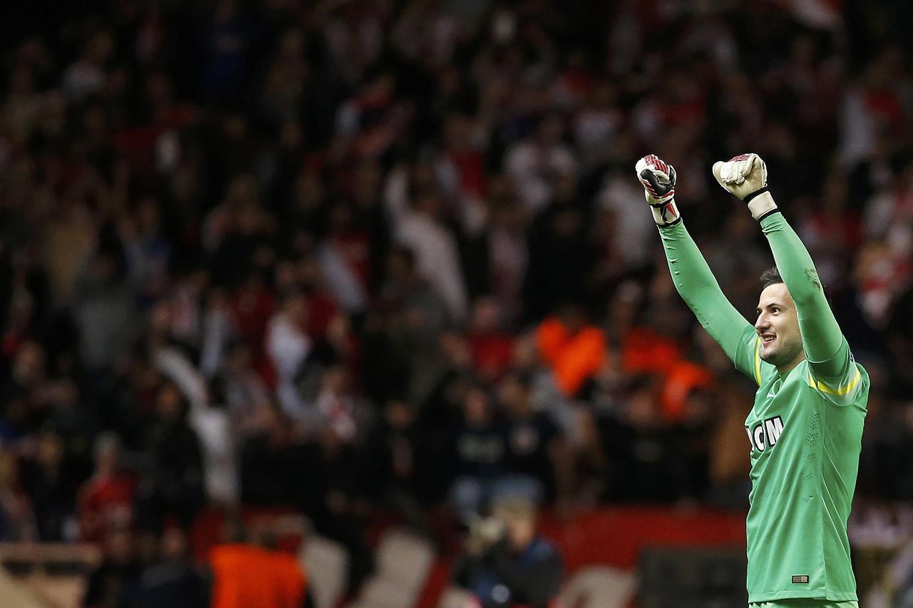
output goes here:
<path id="1" fill-rule="evenodd" d="M 844 336 L 824 297 L 812 257 L 782 213 L 761 220 L 761 229 L 795 302 L 805 356 L 813 372 L 825 378 L 839 377 L 845 372 L 848 349 L 841 348 Z"/>

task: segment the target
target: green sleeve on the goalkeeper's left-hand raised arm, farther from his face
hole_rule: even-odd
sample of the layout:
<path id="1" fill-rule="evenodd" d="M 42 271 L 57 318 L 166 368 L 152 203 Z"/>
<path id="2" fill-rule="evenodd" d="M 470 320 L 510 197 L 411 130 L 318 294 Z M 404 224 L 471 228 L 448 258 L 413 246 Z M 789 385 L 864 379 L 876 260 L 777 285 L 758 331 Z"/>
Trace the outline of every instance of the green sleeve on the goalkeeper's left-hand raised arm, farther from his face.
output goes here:
<path id="1" fill-rule="evenodd" d="M 726 299 L 684 223 L 659 228 L 659 234 L 679 295 L 736 369 L 760 384 L 756 331 Z"/>

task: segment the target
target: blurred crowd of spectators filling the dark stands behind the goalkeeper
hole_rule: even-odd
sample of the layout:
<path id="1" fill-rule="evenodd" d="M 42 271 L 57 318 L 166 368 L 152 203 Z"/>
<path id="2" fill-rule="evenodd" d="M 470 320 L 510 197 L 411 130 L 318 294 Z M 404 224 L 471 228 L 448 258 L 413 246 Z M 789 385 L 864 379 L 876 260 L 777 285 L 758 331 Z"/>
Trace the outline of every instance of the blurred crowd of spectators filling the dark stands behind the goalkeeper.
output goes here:
<path id="1" fill-rule="evenodd" d="M 913 498 L 911 9 L 802 4 L 14 3 L 0 539 L 285 505 L 357 578 L 378 512 L 742 508 L 753 387 L 646 152 L 748 318 L 771 255 L 708 167 L 761 154 L 872 376 L 858 494 Z"/>

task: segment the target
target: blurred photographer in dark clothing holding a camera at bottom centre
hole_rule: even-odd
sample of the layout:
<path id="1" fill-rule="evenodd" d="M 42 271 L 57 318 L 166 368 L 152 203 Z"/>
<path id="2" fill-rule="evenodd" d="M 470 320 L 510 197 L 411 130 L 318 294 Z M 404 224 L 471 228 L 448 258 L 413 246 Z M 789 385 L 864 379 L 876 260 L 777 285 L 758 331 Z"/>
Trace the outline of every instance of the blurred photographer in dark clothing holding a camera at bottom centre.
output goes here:
<path id="1" fill-rule="evenodd" d="M 469 526 L 456 584 L 472 592 L 481 608 L 557 606 L 561 556 L 536 533 L 534 505 L 527 498 L 501 498 L 491 511 Z"/>

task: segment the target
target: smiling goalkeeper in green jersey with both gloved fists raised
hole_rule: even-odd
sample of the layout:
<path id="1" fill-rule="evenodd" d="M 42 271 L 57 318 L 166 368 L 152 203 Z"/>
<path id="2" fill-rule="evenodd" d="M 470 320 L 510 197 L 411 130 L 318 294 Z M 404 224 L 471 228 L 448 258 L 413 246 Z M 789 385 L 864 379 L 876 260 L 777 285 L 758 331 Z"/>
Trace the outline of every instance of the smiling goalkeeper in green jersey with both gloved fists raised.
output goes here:
<path id="1" fill-rule="evenodd" d="M 824 297 L 812 258 L 767 191 L 757 154 L 713 165 L 748 204 L 776 267 L 761 275 L 752 327 L 723 295 L 675 203 L 675 170 L 637 162 L 678 293 L 736 368 L 758 384 L 745 419 L 751 460 L 748 592 L 753 608 L 857 606 L 846 519 L 869 380 Z"/>

